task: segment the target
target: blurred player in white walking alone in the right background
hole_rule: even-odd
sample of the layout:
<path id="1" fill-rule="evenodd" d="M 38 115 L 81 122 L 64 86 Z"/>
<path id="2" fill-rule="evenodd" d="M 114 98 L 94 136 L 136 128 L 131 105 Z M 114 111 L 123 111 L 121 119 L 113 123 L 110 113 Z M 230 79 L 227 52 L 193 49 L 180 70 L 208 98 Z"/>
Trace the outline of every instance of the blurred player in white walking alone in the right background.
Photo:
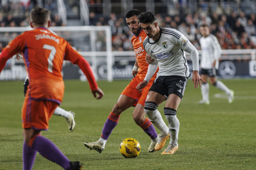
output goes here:
<path id="1" fill-rule="evenodd" d="M 205 81 L 210 79 L 210 83 L 225 92 L 228 95 L 228 102 L 232 103 L 234 100 L 234 91 L 230 90 L 225 84 L 217 80 L 216 70 L 219 68 L 219 59 L 221 57 L 221 46 L 218 39 L 210 34 L 210 28 L 206 23 L 200 25 L 200 33 L 202 38 L 200 38 L 200 46 L 202 49 L 202 57 L 200 66 L 201 78 Z M 200 104 L 210 104 L 209 100 L 209 84 L 202 83 L 201 88 L 203 100 L 200 100 Z"/>

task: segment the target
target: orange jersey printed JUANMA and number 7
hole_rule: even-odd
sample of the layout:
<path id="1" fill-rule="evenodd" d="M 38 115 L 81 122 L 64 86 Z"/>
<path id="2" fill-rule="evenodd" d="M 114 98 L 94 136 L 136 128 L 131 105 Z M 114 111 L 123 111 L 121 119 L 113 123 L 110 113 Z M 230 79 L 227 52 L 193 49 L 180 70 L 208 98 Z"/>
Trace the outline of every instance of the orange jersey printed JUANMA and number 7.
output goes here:
<path id="1" fill-rule="evenodd" d="M 17 36 L 3 51 L 9 55 L 22 52 L 27 69 L 28 96 L 32 100 L 62 102 L 64 82 L 62 79 L 63 60 L 74 63 L 79 55 L 63 38 L 39 27 Z"/>

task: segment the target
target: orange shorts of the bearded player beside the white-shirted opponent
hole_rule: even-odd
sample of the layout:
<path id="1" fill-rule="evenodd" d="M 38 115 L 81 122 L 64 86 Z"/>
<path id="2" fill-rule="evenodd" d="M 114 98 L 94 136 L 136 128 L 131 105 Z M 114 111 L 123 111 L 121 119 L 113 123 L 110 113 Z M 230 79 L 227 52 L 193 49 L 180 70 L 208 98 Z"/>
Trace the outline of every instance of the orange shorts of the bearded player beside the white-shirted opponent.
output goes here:
<path id="1" fill-rule="evenodd" d="M 136 87 L 140 82 L 142 82 L 142 79 L 139 79 L 138 76 L 135 76 L 135 78 L 130 81 L 130 84 L 122 91 L 121 94 L 126 95 L 127 97 L 130 97 L 132 99 L 135 99 L 137 103 L 140 103 L 141 105 L 145 106 L 145 102 L 147 99 L 148 91 L 150 90 L 150 87 L 152 86 L 154 81 L 150 81 L 148 85 L 142 89 L 142 92 L 139 92 Z M 135 103 L 135 105 L 137 105 Z M 135 106 L 134 105 L 134 106 Z"/>

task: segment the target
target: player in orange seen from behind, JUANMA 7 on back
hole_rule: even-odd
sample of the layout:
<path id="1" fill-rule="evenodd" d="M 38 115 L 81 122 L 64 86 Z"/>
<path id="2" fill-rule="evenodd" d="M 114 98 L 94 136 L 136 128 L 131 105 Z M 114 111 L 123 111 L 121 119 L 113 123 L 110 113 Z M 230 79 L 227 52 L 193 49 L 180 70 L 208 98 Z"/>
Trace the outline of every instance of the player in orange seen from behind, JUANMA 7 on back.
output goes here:
<path id="1" fill-rule="evenodd" d="M 93 95 L 103 97 L 90 64 L 63 38 L 48 30 L 49 10 L 35 7 L 30 12 L 31 31 L 25 31 L 11 41 L 0 54 L 0 72 L 6 61 L 22 52 L 30 84 L 22 107 L 24 129 L 23 170 L 32 169 L 36 152 L 64 169 L 80 169 L 79 162 L 71 162 L 50 140 L 41 136 L 48 129 L 53 111 L 62 102 L 64 82 L 61 75 L 63 60 L 79 65 L 87 76 Z"/>

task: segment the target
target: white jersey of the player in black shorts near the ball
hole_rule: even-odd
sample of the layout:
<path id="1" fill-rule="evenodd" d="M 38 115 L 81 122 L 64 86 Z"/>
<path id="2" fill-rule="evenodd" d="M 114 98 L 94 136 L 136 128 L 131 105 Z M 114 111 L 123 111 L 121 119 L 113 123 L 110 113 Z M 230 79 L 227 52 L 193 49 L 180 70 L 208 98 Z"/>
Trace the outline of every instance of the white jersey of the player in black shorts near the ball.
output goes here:
<path id="1" fill-rule="evenodd" d="M 158 40 L 154 42 L 151 38 L 147 37 L 143 41 L 145 51 L 152 59 L 155 59 L 155 62 L 151 63 L 148 67 L 145 81 L 148 82 L 150 80 L 151 75 L 157 69 L 157 65 L 159 65 L 157 76 L 184 76 L 188 78 L 190 76 L 189 67 L 184 51 L 190 53 L 193 70 L 198 71 L 198 52 L 189 40 L 175 29 L 160 29 L 160 38 Z"/>

